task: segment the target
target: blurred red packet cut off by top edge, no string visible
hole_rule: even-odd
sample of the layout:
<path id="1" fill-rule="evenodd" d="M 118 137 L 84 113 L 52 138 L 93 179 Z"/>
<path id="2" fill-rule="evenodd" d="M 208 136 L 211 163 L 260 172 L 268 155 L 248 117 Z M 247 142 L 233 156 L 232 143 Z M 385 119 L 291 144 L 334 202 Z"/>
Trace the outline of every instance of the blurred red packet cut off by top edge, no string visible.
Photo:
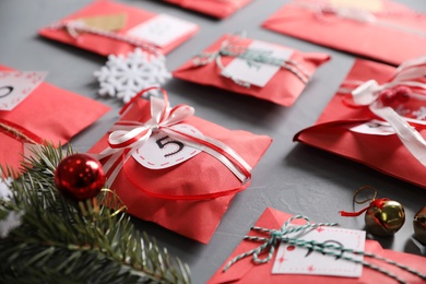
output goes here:
<path id="1" fill-rule="evenodd" d="M 166 2 L 180 5 L 182 8 L 198 11 L 214 17 L 224 19 L 246 4 L 251 0 L 165 0 Z"/>

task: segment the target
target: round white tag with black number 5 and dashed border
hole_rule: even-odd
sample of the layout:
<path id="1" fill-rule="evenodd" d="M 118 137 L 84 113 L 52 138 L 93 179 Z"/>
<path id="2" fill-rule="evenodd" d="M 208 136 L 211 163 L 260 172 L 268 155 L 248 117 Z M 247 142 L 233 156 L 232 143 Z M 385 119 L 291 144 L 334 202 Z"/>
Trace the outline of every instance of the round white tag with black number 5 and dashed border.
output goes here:
<path id="1" fill-rule="evenodd" d="M 189 125 L 177 125 L 173 126 L 171 129 L 197 138 L 203 138 L 203 134 L 198 129 Z M 146 168 L 161 169 L 184 163 L 198 155 L 200 152 L 201 150 L 189 146 L 181 141 L 173 139 L 167 133 L 158 131 L 151 135 L 150 139 L 134 152 L 133 158 Z"/>

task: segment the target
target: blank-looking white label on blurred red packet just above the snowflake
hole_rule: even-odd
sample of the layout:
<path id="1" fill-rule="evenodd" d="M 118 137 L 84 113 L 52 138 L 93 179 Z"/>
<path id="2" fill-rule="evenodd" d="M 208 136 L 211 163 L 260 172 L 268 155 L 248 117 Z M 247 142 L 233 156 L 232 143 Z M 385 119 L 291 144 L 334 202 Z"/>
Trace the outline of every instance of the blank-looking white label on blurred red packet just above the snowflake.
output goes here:
<path id="1" fill-rule="evenodd" d="M 132 27 L 127 34 L 158 47 L 165 47 L 196 31 L 197 24 L 167 14 L 158 14 Z"/>

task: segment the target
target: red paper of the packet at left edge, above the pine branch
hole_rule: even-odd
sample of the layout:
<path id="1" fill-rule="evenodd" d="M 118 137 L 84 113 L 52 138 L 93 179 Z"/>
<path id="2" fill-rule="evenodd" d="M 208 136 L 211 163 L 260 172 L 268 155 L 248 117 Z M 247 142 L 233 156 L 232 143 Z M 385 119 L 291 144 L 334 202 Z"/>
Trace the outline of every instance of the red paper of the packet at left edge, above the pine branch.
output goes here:
<path id="1" fill-rule="evenodd" d="M 0 66 L 1 71 L 12 71 Z M 24 143 L 62 145 L 105 115 L 109 107 L 48 83 L 40 83 L 12 110 L 0 110 L 0 165 L 13 169 Z"/>

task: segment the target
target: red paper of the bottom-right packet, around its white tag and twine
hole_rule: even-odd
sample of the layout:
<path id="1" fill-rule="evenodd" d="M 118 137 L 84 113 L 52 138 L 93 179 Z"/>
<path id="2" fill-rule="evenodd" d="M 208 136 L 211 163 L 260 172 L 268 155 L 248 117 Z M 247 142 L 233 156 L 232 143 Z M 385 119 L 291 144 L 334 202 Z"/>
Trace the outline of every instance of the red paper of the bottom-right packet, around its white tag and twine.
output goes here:
<path id="1" fill-rule="evenodd" d="M 291 214 L 267 208 L 263 214 L 256 222 L 255 226 L 267 229 L 280 229 L 291 217 Z M 249 235 L 259 237 L 268 236 L 265 234 L 255 234 L 252 232 L 250 232 Z M 241 253 L 256 249 L 260 244 L 261 242 L 251 240 L 242 240 L 242 242 L 234 250 L 234 252 L 208 283 L 390 283 L 390 281 L 393 281 L 388 275 L 367 267 L 364 267 L 363 275 L 358 279 L 323 275 L 272 274 L 271 271 L 273 260 L 276 257 L 276 250 L 274 251 L 271 261 L 267 263 L 256 264 L 250 256 L 239 259 L 232 264 L 226 272 L 223 272 L 223 269 L 226 268 L 232 260 Z M 426 273 L 426 259 L 423 257 L 382 249 L 379 242 L 368 239 L 365 244 L 365 251 L 399 262 L 405 267 L 416 270 L 423 275 Z M 407 271 L 386 263 L 379 259 L 364 257 L 364 260 L 395 274 L 400 279 L 406 281 L 406 283 L 423 283 L 424 281 Z"/>

